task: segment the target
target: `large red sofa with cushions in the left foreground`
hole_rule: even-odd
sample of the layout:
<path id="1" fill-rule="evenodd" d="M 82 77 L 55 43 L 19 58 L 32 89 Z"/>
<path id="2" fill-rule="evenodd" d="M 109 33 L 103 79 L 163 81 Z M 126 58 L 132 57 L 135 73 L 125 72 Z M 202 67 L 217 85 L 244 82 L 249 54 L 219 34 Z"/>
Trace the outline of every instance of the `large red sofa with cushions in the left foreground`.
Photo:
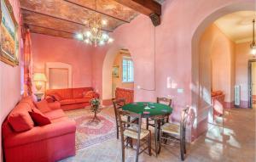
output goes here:
<path id="1" fill-rule="evenodd" d="M 32 98 L 22 98 L 3 121 L 6 162 L 51 162 L 75 155 L 75 121 L 67 118 L 59 103 L 45 103 L 50 108 L 44 113 L 49 125 L 34 126 L 28 113 L 37 109 Z"/>

